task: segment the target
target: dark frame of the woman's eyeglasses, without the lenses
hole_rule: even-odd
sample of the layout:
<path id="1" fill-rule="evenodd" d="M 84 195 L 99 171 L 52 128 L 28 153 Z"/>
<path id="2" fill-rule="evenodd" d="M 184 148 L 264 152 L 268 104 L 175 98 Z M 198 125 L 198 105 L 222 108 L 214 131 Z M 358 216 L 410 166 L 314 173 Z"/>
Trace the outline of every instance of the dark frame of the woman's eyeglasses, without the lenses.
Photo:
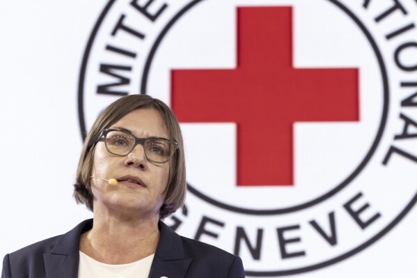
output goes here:
<path id="1" fill-rule="evenodd" d="M 139 145 L 139 144 L 140 144 L 140 145 L 142 146 L 142 148 L 143 148 L 143 152 L 145 153 L 145 157 L 146 157 L 146 159 L 147 159 L 148 161 L 152 162 L 152 163 L 159 163 L 159 164 L 163 164 L 163 163 L 168 162 L 169 160 L 171 160 L 171 158 L 172 158 L 172 157 L 173 157 L 173 155 L 175 154 L 175 151 L 176 151 L 176 150 L 178 150 L 178 148 L 179 148 L 179 144 L 178 144 L 178 142 L 171 141 L 170 139 L 166 139 L 166 138 L 164 138 L 164 137 L 141 138 L 141 137 L 137 137 L 137 136 L 135 136 L 134 134 L 132 134 L 132 133 L 128 132 L 127 130 L 120 130 L 120 129 L 118 129 L 118 128 L 105 128 L 104 130 L 102 130 L 102 132 L 100 132 L 100 135 L 97 137 L 97 140 L 95 140 L 95 142 L 94 142 L 94 144 L 92 144 L 92 146 L 94 146 L 95 144 L 97 144 L 97 143 L 98 143 L 98 141 L 100 141 L 100 139 L 102 139 L 102 138 L 104 137 L 104 146 L 106 146 L 106 150 L 107 150 L 109 153 L 111 153 L 112 155 L 117 155 L 117 156 L 120 156 L 120 157 L 123 157 L 123 156 L 127 156 L 127 155 L 129 155 L 129 153 L 127 153 L 127 154 L 125 154 L 125 155 L 119 155 L 119 154 L 117 154 L 117 153 L 112 153 L 112 152 L 109 150 L 109 148 L 107 147 L 106 137 L 107 137 L 107 133 L 109 133 L 109 132 L 111 132 L 111 131 L 125 132 L 126 134 L 129 134 L 130 136 L 132 136 L 132 137 L 134 138 L 134 144 L 133 144 L 132 148 L 129 150 L 129 153 L 132 153 L 132 150 L 134 150 L 134 148 L 135 148 L 137 145 Z M 174 148 L 173 148 L 173 152 L 169 155 L 168 159 L 167 159 L 166 161 L 164 161 L 164 162 L 158 162 L 158 161 L 155 161 L 155 160 L 151 160 L 151 159 L 148 157 L 148 154 L 146 153 L 146 150 L 145 150 L 145 142 L 146 142 L 146 141 L 148 141 L 148 140 L 155 140 L 155 139 L 157 139 L 157 140 L 164 140 L 164 141 L 168 141 L 169 143 L 173 144 L 173 146 L 174 146 Z"/>

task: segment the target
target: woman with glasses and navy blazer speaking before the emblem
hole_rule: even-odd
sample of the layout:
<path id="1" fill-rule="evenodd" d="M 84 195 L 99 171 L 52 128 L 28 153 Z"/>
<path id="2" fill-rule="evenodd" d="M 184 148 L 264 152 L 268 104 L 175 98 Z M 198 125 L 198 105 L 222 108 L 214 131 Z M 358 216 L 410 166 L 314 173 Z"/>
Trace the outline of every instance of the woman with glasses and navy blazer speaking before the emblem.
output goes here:
<path id="1" fill-rule="evenodd" d="M 120 98 L 93 124 L 79 160 L 74 197 L 93 219 L 6 255 L 1 278 L 244 277 L 239 257 L 160 221 L 186 190 L 171 109 L 149 95 Z"/>

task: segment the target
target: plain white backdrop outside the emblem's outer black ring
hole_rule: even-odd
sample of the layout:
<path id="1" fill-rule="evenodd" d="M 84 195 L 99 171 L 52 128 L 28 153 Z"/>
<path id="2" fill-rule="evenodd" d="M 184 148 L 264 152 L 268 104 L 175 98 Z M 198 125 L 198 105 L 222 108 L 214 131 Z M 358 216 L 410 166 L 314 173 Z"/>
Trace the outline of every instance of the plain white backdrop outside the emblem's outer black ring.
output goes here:
<path id="1" fill-rule="evenodd" d="M 77 86 L 86 42 L 106 3 L 0 2 L 1 256 L 92 216 L 72 199 L 81 149 Z M 359 254 L 292 277 L 417 277 L 416 223 L 413 208 Z"/>

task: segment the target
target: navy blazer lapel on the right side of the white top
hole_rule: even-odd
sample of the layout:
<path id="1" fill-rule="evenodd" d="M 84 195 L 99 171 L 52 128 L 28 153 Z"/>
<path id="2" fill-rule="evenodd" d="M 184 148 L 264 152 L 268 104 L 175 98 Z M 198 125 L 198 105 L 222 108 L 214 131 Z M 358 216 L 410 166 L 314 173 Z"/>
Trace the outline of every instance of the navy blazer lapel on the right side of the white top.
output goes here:
<path id="1" fill-rule="evenodd" d="M 159 222 L 159 229 L 161 235 L 150 267 L 149 278 L 184 278 L 193 259 L 184 257 L 180 235 L 163 222 Z"/>

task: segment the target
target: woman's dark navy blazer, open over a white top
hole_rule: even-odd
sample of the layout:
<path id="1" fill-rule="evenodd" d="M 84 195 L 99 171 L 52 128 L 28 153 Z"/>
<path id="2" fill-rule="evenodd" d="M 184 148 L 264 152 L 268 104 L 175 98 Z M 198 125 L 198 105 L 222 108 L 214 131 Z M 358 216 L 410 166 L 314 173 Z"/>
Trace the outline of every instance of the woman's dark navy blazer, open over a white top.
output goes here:
<path id="1" fill-rule="evenodd" d="M 77 278 L 79 238 L 93 227 L 93 219 L 54 238 L 7 254 L 1 278 Z M 242 278 L 242 260 L 217 247 L 184 238 L 159 222 L 161 235 L 150 278 Z"/>

